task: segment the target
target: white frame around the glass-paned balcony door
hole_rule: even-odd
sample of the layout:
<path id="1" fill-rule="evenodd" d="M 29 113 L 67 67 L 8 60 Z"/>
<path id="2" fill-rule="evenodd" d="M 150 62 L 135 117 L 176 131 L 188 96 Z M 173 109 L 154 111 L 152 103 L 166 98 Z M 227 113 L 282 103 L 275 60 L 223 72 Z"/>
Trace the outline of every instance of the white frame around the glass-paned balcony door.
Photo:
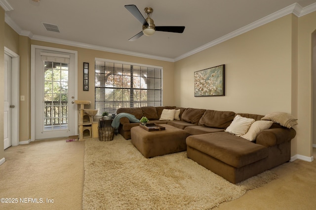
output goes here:
<path id="1" fill-rule="evenodd" d="M 75 98 L 78 97 L 78 51 L 31 45 L 31 141 L 35 141 L 35 50 L 50 50 L 75 54 Z M 76 99 L 74 99 L 76 100 Z M 78 109 L 75 109 L 75 135 L 78 135 Z"/>

